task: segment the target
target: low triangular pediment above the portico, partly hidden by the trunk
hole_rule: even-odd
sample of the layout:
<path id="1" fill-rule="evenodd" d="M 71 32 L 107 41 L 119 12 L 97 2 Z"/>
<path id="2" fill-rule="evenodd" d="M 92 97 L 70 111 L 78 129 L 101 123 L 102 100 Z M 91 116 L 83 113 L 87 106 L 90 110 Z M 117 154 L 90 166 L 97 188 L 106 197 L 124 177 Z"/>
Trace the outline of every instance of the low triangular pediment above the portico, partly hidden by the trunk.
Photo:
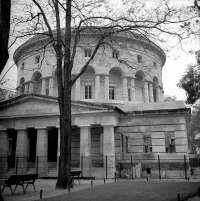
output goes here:
<path id="1" fill-rule="evenodd" d="M 97 110 L 114 110 L 113 107 L 103 106 L 84 101 L 72 101 L 72 114 Z M 27 94 L 0 103 L 0 117 L 40 116 L 59 114 L 57 98 Z"/>

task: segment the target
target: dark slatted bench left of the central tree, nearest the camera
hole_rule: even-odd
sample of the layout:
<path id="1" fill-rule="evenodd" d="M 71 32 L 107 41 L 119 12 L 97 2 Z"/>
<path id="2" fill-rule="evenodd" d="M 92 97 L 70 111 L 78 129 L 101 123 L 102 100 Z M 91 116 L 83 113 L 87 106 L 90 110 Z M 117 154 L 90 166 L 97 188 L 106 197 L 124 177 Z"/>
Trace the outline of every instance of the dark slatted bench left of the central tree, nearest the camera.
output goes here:
<path id="1" fill-rule="evenodd" d="M 9 187 L 11 194 L 13 195 L 17 186 L 22 186 L 24 193 L 26 192 L 26 189 L 29 185 L 33 185 L 35 190 L 35 180 L 38 178 L 39 174 L 25 174 L 25 175 L 11 175 L 3 184 L 2 193 L 4 191 L 5 187 Z M 14 191 L 12 191 L 12 186 L 15 185 Z M 24 188 L 24 185 L 26 187 Z M 35 190 L 36 191 L 36 190 Z"/>

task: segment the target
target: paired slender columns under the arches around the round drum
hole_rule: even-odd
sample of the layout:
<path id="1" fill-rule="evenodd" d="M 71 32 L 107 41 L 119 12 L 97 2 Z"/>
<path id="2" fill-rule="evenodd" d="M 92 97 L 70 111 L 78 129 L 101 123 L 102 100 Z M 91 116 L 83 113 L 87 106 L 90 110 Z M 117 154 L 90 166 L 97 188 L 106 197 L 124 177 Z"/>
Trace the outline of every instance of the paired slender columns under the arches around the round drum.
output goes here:
<path id="1" fill-rule="evenodd" d="M 95 94 L 94 99 L 100 100 L 100 76 L 104 76 L 104 99 L 109 100 L 109 74 L 95 74 Z M 55 77 L 41 77 L 42 85 L 41 85 L 41 92 L 39 92 L 42 95 L 49 95 L 54 96 L 54 84 Z M 123 101 L 131 101 L 136 102 L 136 86 L 135 86 L 135 78 L 134 77 L 122 77 L 122 96 Z M 48 81 L 48 84 L 47 84 Z M 128 84 L 129 83 L 129 84 Z M 23 92 L 25 94 L 28 93 L 35 93 L 33 91 L 34 87 L 34 81 L 28 81 L 24 83 L 24 90 L 23 86 L 18 86 L 18 94 L 22 95 Z M 57 86 L 56 86 L 57 87 Z M 153 86 L 153 82 L 150 81 L 144 81 L 143 83 L 143 102 L 145 103 L 152 103 L 152 102 L 162 102 L 163 101 L 163 94 L 162 94 L 162 87 L 156 86 L 156 89 L 154 89 L 155 86 Z M 48 92 L 47 92 L 48 90 Z M 129 91 L 130 90 L 130 91 Z M 153 90 L 156 90 L 156 95 L 153 93 Z M 129 94 L 130 93 L 130 94 Z M 154 97 L 156 96 L 156 97 Z M 77 79 L 75 82 L 75 100 L 81 99 L 81 78 Z"/>

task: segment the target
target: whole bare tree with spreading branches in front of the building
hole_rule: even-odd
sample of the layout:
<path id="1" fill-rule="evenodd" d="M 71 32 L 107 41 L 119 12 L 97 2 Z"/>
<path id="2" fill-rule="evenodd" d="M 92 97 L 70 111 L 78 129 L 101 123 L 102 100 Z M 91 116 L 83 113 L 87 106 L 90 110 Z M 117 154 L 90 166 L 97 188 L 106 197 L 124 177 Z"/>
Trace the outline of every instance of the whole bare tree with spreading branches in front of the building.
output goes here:
<path id="1" fill-rule="evenodd" d="M 68 188 L 71 183 L 71 89 L 98 54 L 105 48 L 123 49 L 117 35 L 127 41 L 141 37 L 149 43 L 164 43 L 169 36 L 179 41 L 186 37 L 180 24 L 187 21 L 183 10 L 173 8 L 167 1 L 107 1 L 107 0 L 29 0 L 20 1 L 23 16 L 15 18 L 16 38 L 46 35 L 56 56 L 58 103 L 60 110 L 60 165 L 56 188 Z M 18 7 L 19 9 L 19 7 Z M 171 26 L 173 24 L 173 26 Z M 177 30 L 177 26 L 180 28 Z M 74 61 L 85 32 L 92 32 L 95 45 L 82 70 L 72 77 Z M 168 37 L 167 37 L 168 36 Z M 87 44 L 91 45 L 91 44 Z M 145 47 L 144 47 L 145 49 Z M 118 62 L 128 68 L 134 64 L 126 58 Z"/>

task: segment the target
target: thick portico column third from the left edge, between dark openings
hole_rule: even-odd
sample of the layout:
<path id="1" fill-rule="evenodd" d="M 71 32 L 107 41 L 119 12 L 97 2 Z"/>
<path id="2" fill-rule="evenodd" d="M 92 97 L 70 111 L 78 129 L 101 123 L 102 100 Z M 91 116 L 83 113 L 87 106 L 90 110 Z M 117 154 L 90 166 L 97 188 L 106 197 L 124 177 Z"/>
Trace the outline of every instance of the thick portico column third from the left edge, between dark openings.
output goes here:
<path id="1" fill-rule="evenodd" d="M 37 148 L 38 156 L 38 173 L 40 176 L 46 176 L 48 172 L 48 130 L 47 128 L 37 129 Z"/>

